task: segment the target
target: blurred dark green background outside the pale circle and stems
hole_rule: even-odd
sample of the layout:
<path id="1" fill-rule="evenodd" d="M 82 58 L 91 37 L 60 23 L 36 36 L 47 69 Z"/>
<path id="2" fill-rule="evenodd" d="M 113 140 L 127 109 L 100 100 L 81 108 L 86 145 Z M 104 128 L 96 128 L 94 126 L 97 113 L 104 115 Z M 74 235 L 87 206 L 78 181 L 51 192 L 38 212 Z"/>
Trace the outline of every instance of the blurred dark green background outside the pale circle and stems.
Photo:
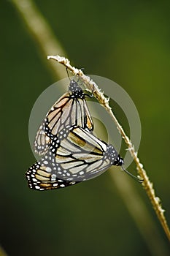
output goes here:
<path id="1" fill-rule="evenodd" d="M 74 65 L 115 80 L 134 100 L 142 122 L 139 157 L 170 222 L 170 2 L 34 2 Z M 55 79 L 12 1 L 1 0 L 0 20 L 1 246 L 10 256 L 152 255 L 109 172 L 66 189 L 28 189 L 24 175 L 35 162 L 28 119 L 36 98 Z M 116 116 L 123 124 L 118 110 Z M 131 182 L 167 250 L 147 195 Z"/>

